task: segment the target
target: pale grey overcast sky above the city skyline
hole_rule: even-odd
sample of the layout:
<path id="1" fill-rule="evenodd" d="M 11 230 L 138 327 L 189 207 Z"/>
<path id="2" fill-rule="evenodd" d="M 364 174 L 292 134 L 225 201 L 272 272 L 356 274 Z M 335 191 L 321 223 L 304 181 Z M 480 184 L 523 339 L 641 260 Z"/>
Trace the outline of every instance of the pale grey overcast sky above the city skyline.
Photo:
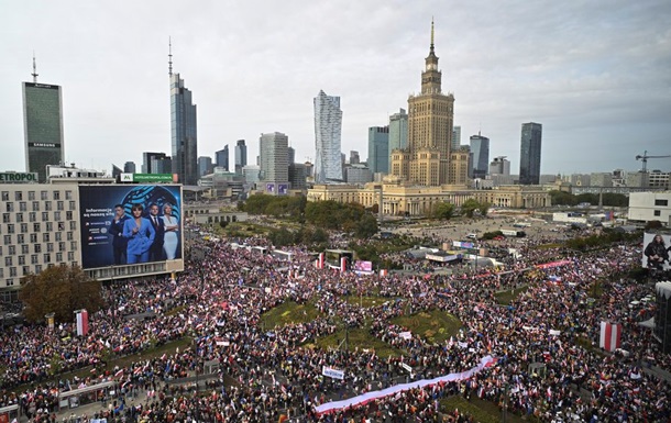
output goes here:
<path id="1" fill-rule="evenodd" d="M 420 90 L 431 18 L 462 144 L 519 168 L 520 127 L 543 125 L 542 174 L 636 170 L 671 155 L 671 2 L 0 0 L 0 170 L 24 170 L 21 82 L 63 87 L 68 163 L 110 171 L 170 153 L 173 68 L 198 105 L 198 155 L 283 132 L 314 160 L 312 99 L 341 98 L 342 151 Z M 671 158 L 650 159 L 671 170 Z"/>

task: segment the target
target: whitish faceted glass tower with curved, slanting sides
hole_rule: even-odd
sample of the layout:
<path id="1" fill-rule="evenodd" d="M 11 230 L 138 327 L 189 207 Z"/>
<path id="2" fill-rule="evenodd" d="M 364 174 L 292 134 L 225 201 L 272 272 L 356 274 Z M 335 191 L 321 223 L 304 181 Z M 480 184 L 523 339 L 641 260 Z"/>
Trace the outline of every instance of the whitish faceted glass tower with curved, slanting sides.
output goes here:
<path id="1" fill-rule="evenodd" d="M 343 179 L 341 130 L 340 97 L 327 96 L 323 91 L 319 91 L 315 97 L 315 182 L 317 183 Z"/>

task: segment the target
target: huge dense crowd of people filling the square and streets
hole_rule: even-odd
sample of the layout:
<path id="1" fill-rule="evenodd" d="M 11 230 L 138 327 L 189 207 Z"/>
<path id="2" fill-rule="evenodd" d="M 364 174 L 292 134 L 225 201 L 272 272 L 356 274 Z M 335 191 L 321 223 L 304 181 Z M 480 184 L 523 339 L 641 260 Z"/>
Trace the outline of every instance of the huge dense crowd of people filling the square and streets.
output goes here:
<path id="1" fill-rule="evenodd" d="M 235 243 L 233 243 L 233 241 Z M 261 237 L 198 241 L 205 259 L 187 263 L 176 280 L 114 281 L 109 308 L 90 318 L 86 336 L 74 324 L 12 327 L 0 334 L 0 408 L 19 404 L 33 422 L 54 421 L 58 394 L 114 381 L 114 394 L 86 421 L 131 422 L 431 422 L 466 419 L 442 413 L 440 400 L 460 394 L 492 401 L 507 412 L 540 421 L 667 422 L 667 381 L 646 366 L 669 369 L 650 330 L 651 303 L 630 307 L 652 292 L 623 275 L 640 266 L 640 247 L 613 245 L 566 256 L 534 248 L 503 268 L 441 275 L 358 275 L 319 269 L 305 248 L 279 264 L 260 249 Z M 403 259 L 403 257 L 397 257 Z M 594 282 L 603 293 L 592 296 Z M 496 293 L 526 286 L 509 305 Z M 348 297 L 386 301 L 362 307 Z M 287 302 L 310 303 L 319 316 L 307 323 L 265 327 L 263 313 Z M 461 330 L 437 343 L 392 323 L 396 316 L 441 310 Z M 142 316 L 132 318 L 132 316 Z M 602 321 L 623 324 L 617 354 L 594 346 Z M 373 348 L 314 347 L 343 326 L 367 327 L 372 336 L 403 354 L 381 357 Z M 193 337 L 161 357 L 106 369 L 120 356 Z M 597 343 L 596 343 L 597 344 Z M 398 383 L 458 374 L 485 356 L 495 365 L 468 380 L 437 383 L 381 397 L 346 409 L 318 413 L 317 407 Z M 206 363 L 217 363 L 208 375 Z M 341 369 L 342 380 L 323 367 Z M 50 382 L 54 375 L 90 368 L 87 378 Z M 408 368 L 411 371 L 408 371 Z M 200 375 L 193 380 L 195 375 Z M 20 392 L 15 387 L 26 387 Z M 136 400 L 141 394 L 143 401 Z M 197 394 L 199 393 L 199 394 Z M 116 401 L 116 402 L 114 402 Z"/>

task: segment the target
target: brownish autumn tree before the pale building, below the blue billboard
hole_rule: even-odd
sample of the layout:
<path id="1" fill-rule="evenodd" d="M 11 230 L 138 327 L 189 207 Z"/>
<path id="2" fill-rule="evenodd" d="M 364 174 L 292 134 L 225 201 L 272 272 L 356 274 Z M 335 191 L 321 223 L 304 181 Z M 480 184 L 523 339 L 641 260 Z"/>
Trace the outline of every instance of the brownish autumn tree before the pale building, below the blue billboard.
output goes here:
<path id="1" fill-rule="evenodd" d="M 25 276 L 21 285 L 19 299 L 29 322 L 41 322 L 47 313 L 54 313 L 58 322 L 69 322 L 75 310 L 95 313 L 103 305 L 100 282 L 89 279 L 78 266 L 50 267 Z"/>

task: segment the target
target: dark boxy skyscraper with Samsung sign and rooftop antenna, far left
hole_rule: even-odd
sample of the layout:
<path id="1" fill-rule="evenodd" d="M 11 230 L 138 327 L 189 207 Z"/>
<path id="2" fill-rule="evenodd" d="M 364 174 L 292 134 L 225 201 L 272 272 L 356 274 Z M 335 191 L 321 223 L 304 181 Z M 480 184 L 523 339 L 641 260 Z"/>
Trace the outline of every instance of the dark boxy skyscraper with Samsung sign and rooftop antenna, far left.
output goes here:
<path id="1" fill-rule="evenodd" d="M 63 146 L 63 98 L 59 86 L 37 84 L 33 57 L 33 81 L 23 82 L 25 170 L 46 181 L 46 165 L 65 162 Z"/>

